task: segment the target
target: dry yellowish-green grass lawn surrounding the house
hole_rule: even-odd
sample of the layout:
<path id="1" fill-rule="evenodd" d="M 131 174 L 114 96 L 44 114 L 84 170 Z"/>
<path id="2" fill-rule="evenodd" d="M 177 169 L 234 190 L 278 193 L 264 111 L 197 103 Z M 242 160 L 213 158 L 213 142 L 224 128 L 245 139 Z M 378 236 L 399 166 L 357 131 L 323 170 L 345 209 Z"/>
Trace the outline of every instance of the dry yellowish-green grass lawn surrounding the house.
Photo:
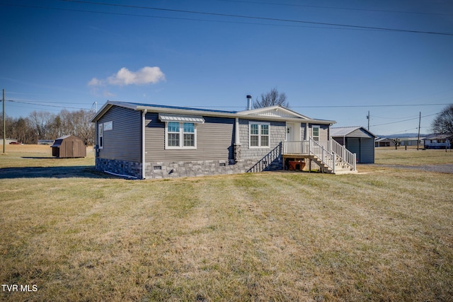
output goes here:
<path id="1" fill-rule="evenodd" d="M 92 152 L 8 147 L 0 282 L 30 291 L 2 286 L 0 300 L 453 300 L 453 174 L 359 165 L 122 180 L 94 172 Z M 453 163 L 377 149 L 385 165 L 432 158 Z"/>

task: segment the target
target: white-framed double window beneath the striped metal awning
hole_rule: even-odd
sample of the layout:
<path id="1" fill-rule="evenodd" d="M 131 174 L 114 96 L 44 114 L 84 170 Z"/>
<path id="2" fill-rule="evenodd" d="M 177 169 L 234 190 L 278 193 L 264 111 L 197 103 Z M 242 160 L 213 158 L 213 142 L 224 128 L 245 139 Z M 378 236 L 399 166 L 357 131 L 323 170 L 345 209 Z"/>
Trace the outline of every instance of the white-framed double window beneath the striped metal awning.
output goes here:
<path id="1" fill-rule="evenodd" d="M 197 131 L 193 122 L 166 122 L 166 149 L 196 149 Z"/>

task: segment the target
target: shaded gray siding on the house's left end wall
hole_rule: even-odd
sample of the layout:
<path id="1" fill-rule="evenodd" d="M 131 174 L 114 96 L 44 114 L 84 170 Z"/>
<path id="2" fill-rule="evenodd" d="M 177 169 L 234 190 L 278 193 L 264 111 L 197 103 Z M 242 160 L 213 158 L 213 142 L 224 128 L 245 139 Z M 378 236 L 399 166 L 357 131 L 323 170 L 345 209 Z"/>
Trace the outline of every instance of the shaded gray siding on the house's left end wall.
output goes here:
<path id="1" fill-rule="evenodd" d="M 96 144 L 98 124 L 113 122 L 113 129 L 103 132 L 103 149 L 98 158 L 122 161 L 141 161 L 142 112 L 113 106 L 105 112 L 96 124 Z"/>

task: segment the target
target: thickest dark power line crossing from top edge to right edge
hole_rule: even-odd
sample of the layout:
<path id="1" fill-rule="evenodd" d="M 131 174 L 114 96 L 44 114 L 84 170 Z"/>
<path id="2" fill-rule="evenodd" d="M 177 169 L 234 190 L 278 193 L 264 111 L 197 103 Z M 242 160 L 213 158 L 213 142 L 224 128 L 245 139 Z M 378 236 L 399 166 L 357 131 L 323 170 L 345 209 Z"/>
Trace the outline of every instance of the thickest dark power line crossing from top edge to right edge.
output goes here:
<path id="1" fill-rule="evenodd" d="M 257 16 L 246 16 L 246 15 L 234 15 L 230 13 L 209 13 L 204 11 L 187 11 L 182 9 L 173 9 L 173 8 L 157 8 L 153 6 L 134 6 L 134 5 L 125 5 L 125 4 L 108 4 L 103 2 L 93 2 L 93 1 L 79 1 L 79 0 L 59 0 L 64 2 L 74 2 L 80 4 L 94 4 L 101 6 L 113 6 L 113 7 L 122 7 L 122 8 L 140 8 L 140 9 L 150 9 L 154 11 L 171 11 L 177 13 L 193 13 L 199 15 L 208 15 L 208 16 L 222 16 L 222 17 L 233 17 L 233 18 L 248 18 L 255 20 L 265 20 L 265 21 L 279 21 L 279 22 L 289 22 L 289 23 L 306 23 L 306 24 L 316 24 L 316 25 L 328 25 L 328 26 L 341 26 L 345 28 L 365 28 L 371 30 L 385 30 L 385 31 L 395 31 L 401 33 L 425 33 L 430 35 L 449 35 L 453 36 L 453 33 L 440 33 L 432 31 L 423 31 L 423 30 L 403 30 L 398 28 L 379 28 L 374 26 L 363 26 L 363 25 L 349 25 L 349 24 L 340 24 L 340 23 L 324 23 L 324 22 L 313 22 L 313 21 L 301 21 L 301 20 L 292 20 L 292 19 L 282 19 L 282 18 L 267 18 L 267 17 L 257 17 Z"/>

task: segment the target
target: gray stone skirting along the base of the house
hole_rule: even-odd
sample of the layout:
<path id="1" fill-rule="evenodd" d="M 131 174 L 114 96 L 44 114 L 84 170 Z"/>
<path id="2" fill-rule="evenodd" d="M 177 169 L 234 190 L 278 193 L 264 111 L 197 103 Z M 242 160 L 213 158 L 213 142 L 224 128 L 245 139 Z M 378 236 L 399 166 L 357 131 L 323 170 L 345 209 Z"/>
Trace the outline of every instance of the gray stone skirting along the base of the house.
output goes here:
<path id="1" fill-rule="evenodd" d="M 184 178 L 204 175 L 222 175 L 246 173 L 259 159 L 244 159 L 239 162 L 215 161 L 156 161 L 146 163 L 147 179 L 152 178 Z M 266 170 L 282 169 L 281 161 L 270 165 Z M 96 158 L 96 170 L 117 175 L 142 179 L 142 163 Z"/>

